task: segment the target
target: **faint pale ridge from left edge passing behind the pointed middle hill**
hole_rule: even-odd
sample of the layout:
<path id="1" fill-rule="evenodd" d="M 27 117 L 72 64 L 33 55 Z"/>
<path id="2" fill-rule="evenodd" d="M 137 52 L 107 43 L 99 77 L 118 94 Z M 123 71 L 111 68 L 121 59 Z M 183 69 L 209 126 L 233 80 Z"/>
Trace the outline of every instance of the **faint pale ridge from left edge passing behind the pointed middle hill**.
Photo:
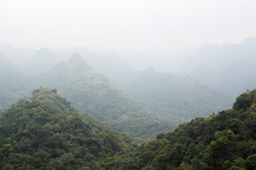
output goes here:
<path id="1" fill-rule="evenodd" d="M 58 62 L 68 60 L 75 52 L 82 55 L 97 72 L 105 74 L 115 86 L 124 86 L 138 74 L 132 64 L 123 60 L 114 50 L 100 53 L 86 47 L 55 47 L 53 50 L 43 47 L 35 50 L 0 45 L 0 54 L 23 66 L 26 73 L 33 76 L 50 71 Z"/>

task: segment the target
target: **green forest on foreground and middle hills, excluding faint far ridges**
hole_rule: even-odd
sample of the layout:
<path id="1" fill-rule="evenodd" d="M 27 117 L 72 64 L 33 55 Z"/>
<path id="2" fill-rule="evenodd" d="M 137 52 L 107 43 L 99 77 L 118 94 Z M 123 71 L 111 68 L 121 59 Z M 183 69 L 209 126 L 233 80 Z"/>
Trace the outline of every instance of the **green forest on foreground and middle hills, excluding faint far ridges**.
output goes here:
<path id="1" fill-rule="evenodd" d="M 256 169 L 255 90 L 214 113 L 230 96 L 148 70 L 140 106 L 77 53 L 36 77 L 0 60 L 0 169 Z"/>

